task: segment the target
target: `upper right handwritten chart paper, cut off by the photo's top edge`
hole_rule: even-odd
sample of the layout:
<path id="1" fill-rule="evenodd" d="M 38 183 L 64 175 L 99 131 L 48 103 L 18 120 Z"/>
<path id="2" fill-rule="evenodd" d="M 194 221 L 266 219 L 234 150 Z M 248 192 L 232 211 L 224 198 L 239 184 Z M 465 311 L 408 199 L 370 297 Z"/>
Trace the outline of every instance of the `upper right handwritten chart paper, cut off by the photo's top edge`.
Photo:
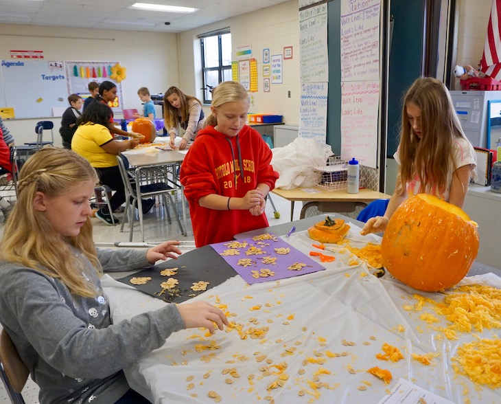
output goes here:
<path id="1" fill-rule="evenodd" d="M 380 0 L 341 1 L 341 80 L 380 79 Z"/>

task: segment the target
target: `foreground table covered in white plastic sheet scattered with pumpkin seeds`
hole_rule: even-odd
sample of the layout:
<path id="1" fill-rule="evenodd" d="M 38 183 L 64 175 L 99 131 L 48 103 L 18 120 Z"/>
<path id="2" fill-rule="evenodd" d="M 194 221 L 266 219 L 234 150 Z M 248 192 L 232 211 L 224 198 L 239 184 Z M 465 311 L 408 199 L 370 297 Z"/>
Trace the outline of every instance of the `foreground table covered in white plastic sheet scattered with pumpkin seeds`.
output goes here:
<path id="1" fill-rule="evenodd" d="M 324 217 L 237 238 L 272 231 L 283 235 L 294 225 L 296 232 L 281 239 L 308 254 L 312 240 L 305 229 Z M 360 236 L 362 223 L 340 214 L 334 217 L 351 225 L 347 238 L 353 247 L 380 242 L 373 234 Z M 183 262 L 189 262 L 189 254 L 198 257 L 200 251 L 189 251 Z M 460 344 L 475 339 L 473 333 L 448 340 L 436 328 L 446 326 L 445 319 L 430 326 L 419 319 L 429 309 L 404 309 L 417 304 L 415 293 L 436 301 L 443 299 L 443 293 L 417 292 L 388 273 L 376 278 L 365 262 L 353 265 L 346 248 L 339 247 L 334 256 L 334 262 L 322 264 L 324 271 L 253 285 L 235 275 L 193 298 L 190 301 L 206 300 L 229 313 L 233 328 L 213 335 L 198 328 L 174 333 L 164 346 L 125 370 L 131 387 L 152 403 L 213 403 L 214 392 L 222 403 L 353 404 L 380 403 L 389 389 L 401 390 L 403 379 L 450 400 L 443 403 L 501 402 L 500 389 L 477 390 L 467 377 L 452 370 L 451 358 Z M 217 265 L 223 262 L 216 254 L 206 259 L 207 267 L 217 266 L 215 260 Z M 172 262 L 159 269 L 167 265 L 172 267 Z M 198 271 L 198 267 L 188 265 L 185 271 Z M 501 287 L 500 270 L 483 266 L 482 272 L 488 273 L 467 277 L 461 284 Z M 102 282 L 115 323 L 166 304 L 108 276 Z M 494 332 L 476 335 L 487 338 Z M 404 359 L 395 363 L 376 359 L 385 343 L 399 348 Z M 411 359 L 411 354 L 430 352 L 439 354 L 430 366 Z M 374 366 L 390 370 L 391 383 L 366 372 Z"/>

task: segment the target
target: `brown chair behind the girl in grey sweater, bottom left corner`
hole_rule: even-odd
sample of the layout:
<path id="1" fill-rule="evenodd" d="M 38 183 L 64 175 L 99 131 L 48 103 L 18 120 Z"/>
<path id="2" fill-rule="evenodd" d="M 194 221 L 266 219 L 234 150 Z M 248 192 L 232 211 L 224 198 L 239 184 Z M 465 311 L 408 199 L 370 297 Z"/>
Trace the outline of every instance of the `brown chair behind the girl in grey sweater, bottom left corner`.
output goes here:
<path id="1" fill-rule="evenodd" d="M 30 370 L 19 357 L 16 347 L 7 331 L 0 333 L 0 378 L 12 404 L 25 404 L 21 392 Z"/>

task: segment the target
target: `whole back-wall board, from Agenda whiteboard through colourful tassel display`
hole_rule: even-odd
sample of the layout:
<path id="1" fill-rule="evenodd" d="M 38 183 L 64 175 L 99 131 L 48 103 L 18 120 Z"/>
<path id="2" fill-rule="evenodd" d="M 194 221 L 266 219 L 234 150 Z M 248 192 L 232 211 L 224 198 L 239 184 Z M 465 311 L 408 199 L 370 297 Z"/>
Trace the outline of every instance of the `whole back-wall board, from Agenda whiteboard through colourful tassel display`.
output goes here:
<path id="1" fill-rule="evenodd" d="M 85 98 L 89 94 L 87 85 L 90 81 L 109 80 L 117 85 L 117 100 L 112 109 L 118 113 L 124 104 L 121 83 L 109 78 L 110 67 L 116 63 L 1 60 L 0 108 L 13 108 L 15 119 L 51 117 L 54 116 L 54 108 L 65 109 L 69 106 L 69 94 L 78 93 Z M 78 75 L 75 75 L 75 67 Z"/>

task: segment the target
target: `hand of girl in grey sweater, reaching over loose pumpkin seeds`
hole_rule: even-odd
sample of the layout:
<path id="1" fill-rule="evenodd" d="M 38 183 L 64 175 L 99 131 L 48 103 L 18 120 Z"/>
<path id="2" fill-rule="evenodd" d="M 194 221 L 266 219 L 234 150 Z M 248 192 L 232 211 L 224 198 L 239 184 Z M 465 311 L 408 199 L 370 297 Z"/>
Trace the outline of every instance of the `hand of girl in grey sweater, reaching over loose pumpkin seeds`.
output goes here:
<path id="1" fill-rule="evenodd" d="M 186 328 L 205 327 L 212 334 L 215 330 L 214 323 L 220 330 L 224 329 L 223 325 L 229 325 L 224 313 L 207 302 L 178 304 L 177 308 Z"/>

